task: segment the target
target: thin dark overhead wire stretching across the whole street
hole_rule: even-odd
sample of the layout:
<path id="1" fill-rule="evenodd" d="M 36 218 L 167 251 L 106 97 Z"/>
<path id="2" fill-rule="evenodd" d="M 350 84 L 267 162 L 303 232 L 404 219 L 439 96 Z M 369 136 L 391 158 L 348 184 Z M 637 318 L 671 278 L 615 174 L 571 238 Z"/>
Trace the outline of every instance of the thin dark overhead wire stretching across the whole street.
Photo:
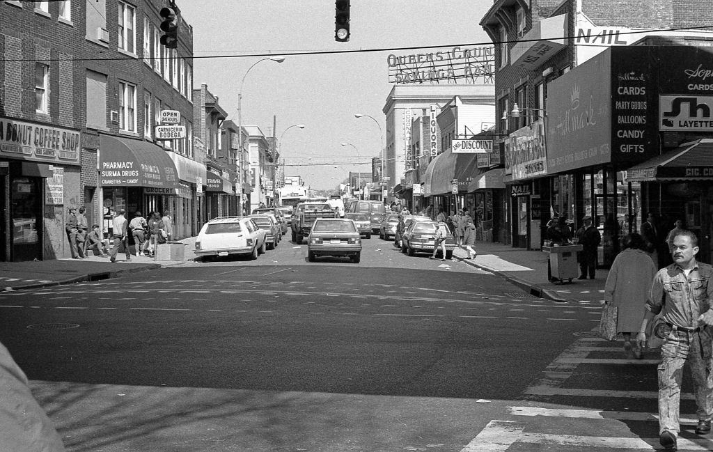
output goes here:
<path id="1" fill-rule="evenodd" d="M 46 0 L 47 1 L 47 0 Z M 650 29 L 650 30 L 637 30 L 637 31 L 612 31 L 611 33 L 598 34 L 602 38 L 607 36 L 622 36 L 627 34 L 650 34 L 650 33 L 660 33 L 665 31 L 686 31 L 686 30 L 704 30 L 712 29 L 711 25 L 701 25 L 701 26 L 687 26 L 679 28 L 670 29 Z M 457 44 L 440 44 L 438 46 L 411 46 L 411 47 L 388 47 L 388 48 L 359 48 L 354 50 L 324 50 L 324 51 L 292 51 L 292 52 L 270 52 L 270 53 L 244 53 L 244 54 L 234 54 L 234 55 L 201 55 L 196 56 L 183 56 L 183 58 L 192 59 L 208 59 L 208 58 L 255 58 L 255 57 L 270 57 L 270 56 L 312 56 L 312 55 L 336 55 L 344 53 L 374 53 L 374 52 L 395 52 L 395 51 L 414 51 L 414 50 L 428 50 L 433 48 L 453 48 L 453 47 L 469 47 L 469 46 L 498 46 L 504 43 L 523 43 L 523 42 L 539 42 L 539 41 L 560 41 L 563 39 L 574 39 L 575 36 L 553 36 L 553 37 L 542 37 L 535 39 L 515 39 L 508 41 L 486 41 L 477 43 L 457 43 Z M 180 39 L 179 39 L 180 40 Z M 592 44 L 573 44 L 574 46 L 592 46 Z M 603 44 L 603 46 L 606 46 Z M 608 46 L 607 46 L 608 47 Z M 151 59 L 148 56 L 115 56 L 108 58 L 43 58 L 42 61 L 143 61 Z M 34 58 L 3 58 L 0 61 L 11 62 L 11 61 L 36 61 Z"/>

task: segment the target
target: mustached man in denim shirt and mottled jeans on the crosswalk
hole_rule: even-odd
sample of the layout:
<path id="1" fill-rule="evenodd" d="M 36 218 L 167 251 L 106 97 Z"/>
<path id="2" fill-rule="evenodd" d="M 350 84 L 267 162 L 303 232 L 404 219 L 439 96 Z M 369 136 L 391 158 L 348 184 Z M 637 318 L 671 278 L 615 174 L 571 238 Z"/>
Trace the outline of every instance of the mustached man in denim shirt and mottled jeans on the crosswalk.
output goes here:
<path id="1" fill-rule="evenodd" d="M 696 433 L 711 430 L 713 417 L 713 267 L 697 262 L 698 238 L 683 230 L 673 239 L 674 263 L 660 269 L 651 284 L 644 319 L 636 340 L 646 344 L 649 322 L 659 313 L 665 323 L 656 336 L 661 346 L 659 379 L 659 441 L 667 451 L 677 450 L 683 366 L 688 363 L 697 405 Z"/>

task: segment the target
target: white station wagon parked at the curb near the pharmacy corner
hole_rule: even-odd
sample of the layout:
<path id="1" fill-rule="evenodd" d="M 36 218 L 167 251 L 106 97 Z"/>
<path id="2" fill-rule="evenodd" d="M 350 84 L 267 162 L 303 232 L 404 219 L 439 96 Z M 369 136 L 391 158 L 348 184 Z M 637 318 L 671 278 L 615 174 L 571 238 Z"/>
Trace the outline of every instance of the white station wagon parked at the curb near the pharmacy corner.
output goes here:
<path id="1" fill-rule="evenodd" d="M 220 217 L 206 222 L 195 239 L 195 260 L 206 257 L 250 255 L 252 259 L 267 248 L 265 230 L 252 218 Z"/>

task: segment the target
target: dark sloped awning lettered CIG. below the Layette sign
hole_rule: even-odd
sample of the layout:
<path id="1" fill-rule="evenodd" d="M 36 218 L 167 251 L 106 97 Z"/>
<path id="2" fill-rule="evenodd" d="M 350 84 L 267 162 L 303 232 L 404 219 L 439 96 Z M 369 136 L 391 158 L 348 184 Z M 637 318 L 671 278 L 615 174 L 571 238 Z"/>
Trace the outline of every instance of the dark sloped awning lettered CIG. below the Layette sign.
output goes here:
<path id="1" fill-rule="evenodd" d="M 692 141 L 627 170 L 629 182 L 713 180 L 713 139 Z"/>

